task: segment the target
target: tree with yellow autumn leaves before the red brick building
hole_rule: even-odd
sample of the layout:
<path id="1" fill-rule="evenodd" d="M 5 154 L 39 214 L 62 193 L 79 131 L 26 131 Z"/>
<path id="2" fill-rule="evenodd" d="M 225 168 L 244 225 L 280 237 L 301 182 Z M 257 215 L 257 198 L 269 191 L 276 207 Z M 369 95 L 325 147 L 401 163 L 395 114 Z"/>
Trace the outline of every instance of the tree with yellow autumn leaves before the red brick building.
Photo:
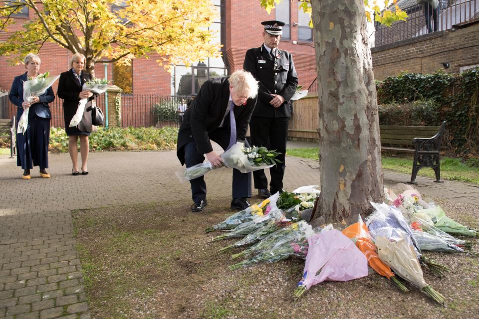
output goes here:
<path id="1" fill-rule="evenodd" d="M 84 54 L 90 73 L 100 59 L 128 64 L 153 52 L 165 66 L 220 56 L 220 44 L 212 43 L 208 30 L 216 14 L 210 1 L 0 1 L 0 31 L 8 32 L 12 14 L 25 6 L 35 17 L 0 43 L 0 54 L 12 55 L 12 61 L 38 52 L 45 42 Z"/>

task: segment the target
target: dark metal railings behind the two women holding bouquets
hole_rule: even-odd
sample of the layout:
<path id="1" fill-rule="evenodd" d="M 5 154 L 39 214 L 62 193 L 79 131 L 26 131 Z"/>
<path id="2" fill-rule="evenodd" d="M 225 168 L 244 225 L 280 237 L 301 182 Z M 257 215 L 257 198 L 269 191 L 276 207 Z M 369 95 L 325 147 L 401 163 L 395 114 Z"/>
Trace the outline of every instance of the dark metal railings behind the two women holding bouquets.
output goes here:
<path id="1" fill-rule="evenodd" d="M 105 114 L 105 94 L 97 96 L 95 101 L 96 105 L 103 111 L 103 114 Z M 50 127 L 64 128 L 63 100 L 55 95 L 55 100 L 48 105 L 51 111 Z M 16 116 L 17 109 L 16 105 L 9 101 L 8 96 L 0 97 L 0 119 L 11 119 L 14 115 Z"/>

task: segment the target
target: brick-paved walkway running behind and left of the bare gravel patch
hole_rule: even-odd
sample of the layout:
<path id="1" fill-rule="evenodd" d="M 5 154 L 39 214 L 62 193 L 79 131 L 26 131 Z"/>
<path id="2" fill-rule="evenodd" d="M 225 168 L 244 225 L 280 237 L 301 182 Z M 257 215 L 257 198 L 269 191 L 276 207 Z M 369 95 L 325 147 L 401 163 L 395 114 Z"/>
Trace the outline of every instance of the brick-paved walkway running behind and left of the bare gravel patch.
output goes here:
<path id="1" fill-rule="evenodd" d="M 189 183 L 179 183 L 173 173 L 181 169 L 175 152 L 90 153 L 86 176 L 71 175 L 68 154 L 49 160 L 52 178 L 42 179 L 35 167 L 32 179 L 22 180 L 16 159 L 0 156 L 0 318 L 90 318 L 71 210 L 175 198 L 189 205 Z M 286 163 L 287 189 L 318 183 L 317 161 L 288 157 Z M 386 184 L 409 180 L 399 173 L 384 177 Z M 206 180 L 209 196 L 230 196 L 230 170 L 211 171 Z M 417 180 L 423 195 L 479 206 L 477 186 Z"/>

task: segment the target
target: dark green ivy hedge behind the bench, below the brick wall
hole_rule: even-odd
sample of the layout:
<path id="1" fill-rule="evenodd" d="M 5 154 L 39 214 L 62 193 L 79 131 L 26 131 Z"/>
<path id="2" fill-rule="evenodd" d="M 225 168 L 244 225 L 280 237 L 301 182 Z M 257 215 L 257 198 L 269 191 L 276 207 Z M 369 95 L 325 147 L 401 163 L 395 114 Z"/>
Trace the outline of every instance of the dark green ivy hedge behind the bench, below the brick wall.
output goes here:
<path id="1" fill-rule="evenodd" d="M 439 125 L 447 120 L 450 150 L 459 155 L 479 154 L 479 68 L 461 74 L 402 73 L 377 82 L 377 91 L 378 104 L 382 105 L 380 123 L 407 118 L 407 112 L 421 117 L 411 118 L 411 123 Z M 386 114 L 385 110 L 396 111 L 398 104 L 407 105 L 408 111 Z M 431 116 L 427 116 L 429 111 Z"/>

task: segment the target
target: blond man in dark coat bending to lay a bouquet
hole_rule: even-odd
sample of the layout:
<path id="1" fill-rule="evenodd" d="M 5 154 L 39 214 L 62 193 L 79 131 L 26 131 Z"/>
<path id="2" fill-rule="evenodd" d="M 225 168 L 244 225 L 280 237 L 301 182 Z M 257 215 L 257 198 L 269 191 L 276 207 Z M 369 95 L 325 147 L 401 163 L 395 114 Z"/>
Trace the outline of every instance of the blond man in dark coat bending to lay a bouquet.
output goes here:
<path id="1" fill-rule="evenodd" d="M 254 77 L 242 70 L 229 77 L 206 81 L 186 110 L 178 132 L 177 156 L 181 164 L 194 166 L 202 163 L 206 155 L 215 167 L 221 167 L 223 161 L 213 151 L 210 141 L 215 141 L 224 150 L 237 141 L 244 141 L 256 105 L 257 91 Z M 190 183 L 194 201 L 191 210 L 201 211 L 208 204 L 205 180 L 201 176 L 190 180 Z M 233 169 L 231 208 L 247 208 L 247 197 L 251 197 L 251 173 Z"/>

